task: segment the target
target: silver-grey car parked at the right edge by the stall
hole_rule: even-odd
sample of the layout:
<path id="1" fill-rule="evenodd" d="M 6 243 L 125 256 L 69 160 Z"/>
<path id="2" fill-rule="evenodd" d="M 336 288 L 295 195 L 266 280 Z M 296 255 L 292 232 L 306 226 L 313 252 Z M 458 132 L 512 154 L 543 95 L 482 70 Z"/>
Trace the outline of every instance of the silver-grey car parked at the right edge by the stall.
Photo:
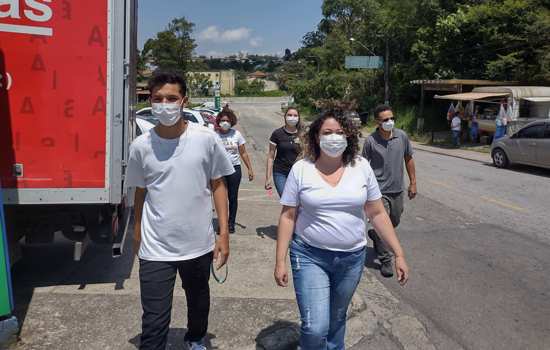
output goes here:
<path id="1" fill-rule="evenodd" d="M 497 168 L 519 163 L 550 169 L 550 119 L 529 123 L 494 141 L 491 156 Z"/>

